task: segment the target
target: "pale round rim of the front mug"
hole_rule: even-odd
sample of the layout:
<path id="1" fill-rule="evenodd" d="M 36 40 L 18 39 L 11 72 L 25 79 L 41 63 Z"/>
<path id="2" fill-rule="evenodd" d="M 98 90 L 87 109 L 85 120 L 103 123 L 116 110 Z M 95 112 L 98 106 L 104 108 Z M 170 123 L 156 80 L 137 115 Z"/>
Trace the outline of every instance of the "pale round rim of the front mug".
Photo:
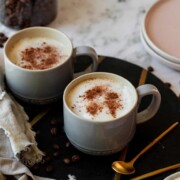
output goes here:
<path id="1" fill-rule="evenodd" d="M 86 78 L 86 77 L 91 77 L 93 75 L 106 75 L 106 77 L 110 77 L 110 76 L 114 76 L 116 78 L 121 78 L 123 79 L 123 81 L 125 81 L 126 83 L 128 83 L 128 85 L 131 87 L 131 89 L 133 89 L 134 91 L 134 95 L 135 95 L 135 100 L 134 100 L 134 104 L 129 108 L 129 110 L 122 116 L 120 117 L 116 117 L 116 118 L 112 118 L 112 119 L 108 119 L 108 120 L 91 120 L 91 119 L 88 119 L 88 118 L 84 118 L 84 117 L 81 117 L 79 115 L 77 115 L 76 113 L 74 113 L 68 106 L 67 104 L 67 101 L 66 101 L 66 97 L 67 97 L 67 92 L 68 92 L 68 89 L 71 88 L 71 86 L 76 83 L 77 81 L 80 81 L 81 79 L 83 78 Z M 85 80 L 85 79 L 84 79 Z M 71 113 L 71 115 L 73 115 L 74 117 L 78 118 L 79 120 L 82 120 L 82 121 L 86 121 L 86 122 L 93 122 L 93 123 L 108 123 L 108 122 L 114 122 L 114 121 L 117 121 L 117 120 L 120 120 L 120 119 L 123 119 L 125 117 L 127 117 L 136 107 L 138 103 L 138 93 L 136 91 L 136 88 L 132 85 L 132 83 L 127 80 L 126 78 L 118 75 L 118 74 L 114 74 L 114 73 L 109 73 L 109 72 L 91 72 L 91 73 L 87 73 L 87 74 L 84 74 L 84 75 L 81 75 L 75 79 L 73 79 L 65 88 L 64 90 L 64 93 L 63 93 L 63 106 L 64 108 L 66 108 L 66 110 Z"/>

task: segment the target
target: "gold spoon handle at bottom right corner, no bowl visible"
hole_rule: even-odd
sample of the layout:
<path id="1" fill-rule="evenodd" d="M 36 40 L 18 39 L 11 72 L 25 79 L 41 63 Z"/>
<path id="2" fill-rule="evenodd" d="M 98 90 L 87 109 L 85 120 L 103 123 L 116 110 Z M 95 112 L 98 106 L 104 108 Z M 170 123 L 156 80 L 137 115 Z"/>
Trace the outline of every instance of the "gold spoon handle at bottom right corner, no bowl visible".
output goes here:
<path id="1" fill-rule="evenodd" d="M 141 180 L 141 179 L 145 179 L 145 178 L 152 177 L 152 176 L 155 176 L 155 175 L 157 175 L 157 174 L 161 174 L 161 173 L 163 173 L 163 172 L 166 172 L 166 171 L 169 171 L 169 170 L 173 170 L 173 169 L 177 169 L 177 168 L 180 168 L 180 163 L 174 164 L 174 165 L 171 165 L 171 166 L 167 166 L 167 167 L 165 167 L 165 168 L 157 169 L 157 170 L 155 170 L 155 171 L 152 171 L 152 172 L 143 174 L 143 175 L 141 175 L 141 176 L 137 176 L 137 177 L 132 178 L 132 179 L 130 179 L 130 180 Z"/>

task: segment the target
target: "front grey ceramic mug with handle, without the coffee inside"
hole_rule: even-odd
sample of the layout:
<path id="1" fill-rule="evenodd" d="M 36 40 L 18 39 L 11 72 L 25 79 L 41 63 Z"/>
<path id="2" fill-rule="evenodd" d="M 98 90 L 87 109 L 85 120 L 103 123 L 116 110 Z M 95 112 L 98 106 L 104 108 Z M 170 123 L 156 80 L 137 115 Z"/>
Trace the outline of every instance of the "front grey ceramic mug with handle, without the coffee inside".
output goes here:
<path id="1" fill-rule="evenodd" d="M 75 113 L 73 108 L 75 106 L 77 107 L 77 105 L 70 107 L 69 102 L 73 98 L 73 95 L 70 96 L 70 92 L 77 87 L 79 83 L 98 78 L 112 79 L 128 91 L 129 95 L 127 95 L 126 98 L 130 103 L 124 114 L 115 118 L 92 120 Z M 97 86 L 101 86 L 100 83 Z M 86 85 L 83 85 L 80 89 L 82 90 L 83 87 L 86 87 Z M 152 95 L 153 97 L 150 105 L 145 110 L 137 112 L 141 99 L 147 95 Z M 80 95 L 79 97 L 84 98 L 84 95 Z M 138 123 L 145 122 L 156 114 L 160 102 L 161 95 L 154 85 L 145 84 L 136 89 L 127 79 L 113 73 L 94 72 L 85 74 L 71 81 L 64 91 L 63 111 L 65 133 L 70 142 L 84 153 L 92 155 L 116 153 L 131 141 Z M 82 109 L 83 106 L 79 111 Z M 88 112 L 85 111 L 85 113 Z"/>

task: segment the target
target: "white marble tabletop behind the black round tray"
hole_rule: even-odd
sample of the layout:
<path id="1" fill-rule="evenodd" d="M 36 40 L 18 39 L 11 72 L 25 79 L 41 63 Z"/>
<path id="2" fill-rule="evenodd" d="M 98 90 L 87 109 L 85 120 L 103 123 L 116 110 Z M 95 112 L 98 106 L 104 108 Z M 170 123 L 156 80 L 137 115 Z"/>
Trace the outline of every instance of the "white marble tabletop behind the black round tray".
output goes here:
<path id="1" fill-rule="evenodd" d="M 147 68 L 180 94 L 180 71 L 161 64 L 147 54 L 140 41 L 144 13 L 156 0 L 59 0 L 59 13 L 49 26 L 65 32 L 74 46 L 89 45 L 99 55 L 116 57 Z M 15 30 L 0 24 L 0 32 Z M 2 59 L 2 50 L 1 50 Z"/>

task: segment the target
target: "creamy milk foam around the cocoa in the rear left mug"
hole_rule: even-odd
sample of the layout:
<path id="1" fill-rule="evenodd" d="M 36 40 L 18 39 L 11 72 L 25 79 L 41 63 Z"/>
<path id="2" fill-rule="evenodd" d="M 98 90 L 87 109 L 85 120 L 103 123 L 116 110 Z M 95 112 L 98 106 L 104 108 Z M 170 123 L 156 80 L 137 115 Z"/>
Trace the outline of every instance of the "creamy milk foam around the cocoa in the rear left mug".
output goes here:
<path id="1" fill-rule="evenodd" d="M 66 59 L 69 55 L 68 48 L 66 48 L 66 46 L 64 44 L 62 44 L 61 42 L 59 42 L 57 40 L 50 39 L 50 38 L 43 38 L 43 37 L 23 38 L 23 39 L 17 41 L 13 45 L 13 47 L 9 53 L 9 58 L 14 64 L 16 64 L 20 67 L 32 66 L 30 64 L 30 62 L 23 60 L 22 52 L 28 48 L 41 48 L 42 46 L 45 46 L 45 45 L 54 48 L 54 50 L 56 51 L 56 56 L 58 56 L 57 62 L 51 64 L 46 69 L 55 67 L 66 61 Z M 43 62 L 43 60 L 46 58 L 46 56 L 48 56 L 48 55 L 45 54 L 42 58 L 39 58 L 39 57 L 36 58 L 36 60 L 35 60 L 36 63 L 40 65 Z M 27 68 L 27 69 L 29 69 L 29 68 Z M 38 68 L 32 67 L 32 69 L 38 69 Z"/>

